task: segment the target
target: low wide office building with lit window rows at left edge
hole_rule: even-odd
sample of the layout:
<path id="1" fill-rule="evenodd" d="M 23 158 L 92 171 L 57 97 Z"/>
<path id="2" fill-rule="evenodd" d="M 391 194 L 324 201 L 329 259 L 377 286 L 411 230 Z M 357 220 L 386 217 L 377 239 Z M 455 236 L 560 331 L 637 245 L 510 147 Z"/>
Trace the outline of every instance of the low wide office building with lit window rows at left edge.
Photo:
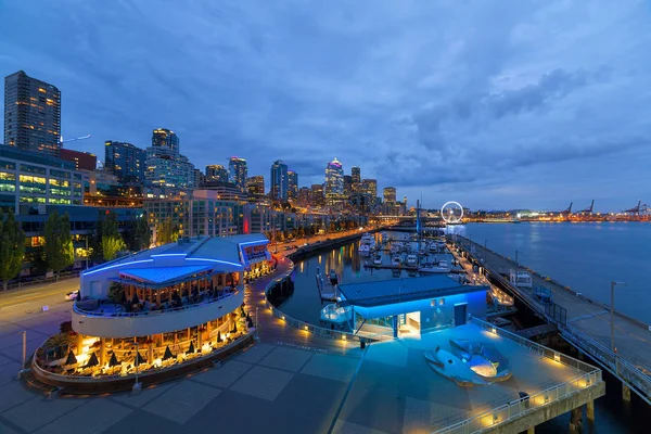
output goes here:
<path id="1" fill-rule="evenodd" d="M 84 184 L 75 163 L 47 153 L 0 145 L 0 207 L 42 214 L 46 205 L 81 205 Z"/>

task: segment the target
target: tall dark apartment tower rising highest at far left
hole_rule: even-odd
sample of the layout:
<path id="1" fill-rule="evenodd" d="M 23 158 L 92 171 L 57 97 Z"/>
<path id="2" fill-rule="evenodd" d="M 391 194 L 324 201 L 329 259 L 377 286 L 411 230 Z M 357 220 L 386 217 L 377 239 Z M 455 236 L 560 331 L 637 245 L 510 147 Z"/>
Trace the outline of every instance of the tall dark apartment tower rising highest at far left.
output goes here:
<path id="1" fill-rule="evenodd" d="M 61 91 L 18 71 L 4 77 L 4 144 L 59 156 Z"/>

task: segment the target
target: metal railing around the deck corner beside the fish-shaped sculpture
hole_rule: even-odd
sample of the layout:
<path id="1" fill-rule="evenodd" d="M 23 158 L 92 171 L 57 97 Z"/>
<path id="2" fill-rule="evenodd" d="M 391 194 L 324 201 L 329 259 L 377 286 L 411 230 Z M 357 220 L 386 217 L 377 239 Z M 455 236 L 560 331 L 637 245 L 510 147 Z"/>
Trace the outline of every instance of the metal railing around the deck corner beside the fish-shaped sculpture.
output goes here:
<path id="1" fill-rule="evenodd" d="M 521 418 L 528 412 L 535 411 L 551 403 L 564 399 L 574 393 L 584 391 L 588 387 L 593 387 L 602 382 L 600 369 L 597 369 L 580 360 L 576 360 L 572 357 L 567 357 L 542 345 L 536 344 L 535 342 L 525 340 L 524 337 L 514 333 L 496 328 L 495 326 L 480 319 L 473 318 L 472 322 L 484 330 L 532 348 L 541 357 L 547 357 L 559 363 L 567 365 L 572 368 L 580 370 L 584 373 L 572 380 L 548 387 L 533 395 L 521 397 L 481 414 L 460 420 L 457 423 L 434 431 L 436 434 L 470 434 L 474 432 L 481 432 L 483 430 L 497 426 L 501 423 L 509 422 L 510 420 Z"/>

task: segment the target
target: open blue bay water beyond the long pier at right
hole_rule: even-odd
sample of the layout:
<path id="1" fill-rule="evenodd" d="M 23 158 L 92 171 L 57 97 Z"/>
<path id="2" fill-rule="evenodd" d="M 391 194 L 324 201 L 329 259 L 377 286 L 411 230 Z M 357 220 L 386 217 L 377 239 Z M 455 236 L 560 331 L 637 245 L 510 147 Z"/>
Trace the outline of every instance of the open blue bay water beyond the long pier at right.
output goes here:
<path id="1" fill-rule="evenodd" d="M 610 305 L 610 282 L 615 308 L 651 324 L 651 225 L 644 222 L 591 224 L 470 224 L 449 227 L 503 256 L 575 292 Z"/>

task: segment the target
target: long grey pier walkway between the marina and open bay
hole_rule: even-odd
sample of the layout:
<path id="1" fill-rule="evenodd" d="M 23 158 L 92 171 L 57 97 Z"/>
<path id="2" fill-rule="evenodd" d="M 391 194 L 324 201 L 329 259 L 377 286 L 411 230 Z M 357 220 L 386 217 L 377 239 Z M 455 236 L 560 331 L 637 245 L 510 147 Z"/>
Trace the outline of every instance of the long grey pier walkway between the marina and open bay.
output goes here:
<path id="1" fill-rule="evenodd" d="M 611 345 L 610 306 L 592 301 L 582 294 L 550 281 L 515 264 L 484 246 L 459 237 L 456 245 L 487 276 L 498 282 L 515 297 L 529 306 L 548 322 L 554 323 L 563 337 L 591 356 L 611 373 L 615 374 L 647 403 L 651 404 L 651 331 L 641 321 L 626 317 L 615 310 L 614 340 Z M 511 285 L 500 271 L 527 270 L 533 285 L 551 291 L 551 304 L 541 304 L 534 297 L 533 290 Z"/>

